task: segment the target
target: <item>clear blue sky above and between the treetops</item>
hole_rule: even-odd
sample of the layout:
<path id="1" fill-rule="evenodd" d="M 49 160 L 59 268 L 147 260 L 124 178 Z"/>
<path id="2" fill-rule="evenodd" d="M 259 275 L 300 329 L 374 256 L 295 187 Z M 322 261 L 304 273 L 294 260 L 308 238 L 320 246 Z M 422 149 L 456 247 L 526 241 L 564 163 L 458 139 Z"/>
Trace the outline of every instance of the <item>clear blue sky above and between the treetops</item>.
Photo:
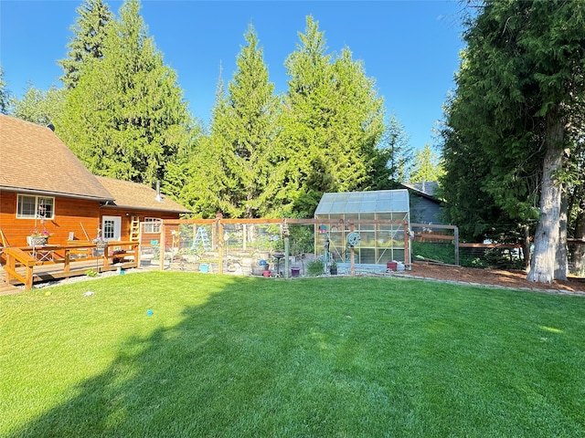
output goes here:
<path id="1" fill-rule="evenodd" d="M 122 2 L 106 0 L 117 15 Z M 61 86 L 57 60 L 66 57 L 79 1 L 0 1 L 0 63 L 8 89 L 21 96 L 27 81 L 39 89 Z M 143 0 L 149 36 L 176 70 L 193 115 L 209 120 L 219 66 L 227 82 L 251 23 L 270 80 L 287 88 L 284 60 L 299 44 L 305 18 L 314 16 L 329 53 L 349 47 L 376 79 L 387 112 L 394 112 L 410 144 L 433 144 L 433 126 L 453 87 L 463 48 L 458 0 L 196 1 Z"/>

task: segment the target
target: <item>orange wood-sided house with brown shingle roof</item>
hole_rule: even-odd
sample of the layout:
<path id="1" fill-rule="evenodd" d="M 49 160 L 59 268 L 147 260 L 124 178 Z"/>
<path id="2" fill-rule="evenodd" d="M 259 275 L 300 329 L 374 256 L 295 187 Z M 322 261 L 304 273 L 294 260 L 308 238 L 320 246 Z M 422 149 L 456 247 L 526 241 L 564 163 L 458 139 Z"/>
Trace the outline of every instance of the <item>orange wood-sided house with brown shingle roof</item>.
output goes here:
<path id="1" fill-rule="evenodd" d="M 153 232 L 188 213 L 143 184 L 94 176 L 50 127 L 0 115 L 0 245 L 25 246 L 32 230 L 53 245 L 137 240 L 139 222 Z"/>

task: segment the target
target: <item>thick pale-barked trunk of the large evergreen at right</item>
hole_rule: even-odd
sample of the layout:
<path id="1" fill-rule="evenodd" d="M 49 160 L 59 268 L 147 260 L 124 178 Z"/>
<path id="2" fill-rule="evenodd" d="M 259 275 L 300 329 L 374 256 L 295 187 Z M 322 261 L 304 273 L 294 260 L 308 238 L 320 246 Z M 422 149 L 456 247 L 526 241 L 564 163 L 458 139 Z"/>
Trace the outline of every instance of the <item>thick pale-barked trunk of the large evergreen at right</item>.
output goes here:
<path id="1" fill-rule="evenodd" d="M 527 279 L 538 283 L 552 283 L 555 266 L 558 264 L 557 251 L 560 227 L 561 184 L 557 174 L 562 167 L 562 141 L 565 126 L 558 114 L 558 108 L 547 114 L 547 138 L 545 158 L 542 163 L 542 187 L 540 189 L 540 218 L 534 236 L 534 254 Z"/>

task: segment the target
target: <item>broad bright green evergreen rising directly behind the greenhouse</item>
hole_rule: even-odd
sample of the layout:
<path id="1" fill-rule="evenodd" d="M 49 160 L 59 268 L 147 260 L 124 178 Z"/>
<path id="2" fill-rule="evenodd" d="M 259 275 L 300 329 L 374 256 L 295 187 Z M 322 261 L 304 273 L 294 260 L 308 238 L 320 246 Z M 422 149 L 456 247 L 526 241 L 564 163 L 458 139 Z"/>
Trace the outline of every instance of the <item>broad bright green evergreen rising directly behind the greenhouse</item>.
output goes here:
<path id="1" fill-rule="evenodd" d="M 335 59 L 325 54 L 324 33 L 312 16 L 300 39 L 285 61 L 291 79 L 281 139 L 290 157 L 287 197 L 297 214 L 313 215 L 325 192 L 378 184 L 384 112 L 374 80 L 348 48 Z"/>

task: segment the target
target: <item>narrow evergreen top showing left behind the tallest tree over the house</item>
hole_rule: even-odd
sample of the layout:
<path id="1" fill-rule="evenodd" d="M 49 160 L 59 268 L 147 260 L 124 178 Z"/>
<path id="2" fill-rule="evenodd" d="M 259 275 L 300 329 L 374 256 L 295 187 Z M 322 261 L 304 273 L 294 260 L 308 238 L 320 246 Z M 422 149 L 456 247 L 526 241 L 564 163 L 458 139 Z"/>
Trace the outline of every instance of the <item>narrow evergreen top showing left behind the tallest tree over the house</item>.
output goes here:
<path id="1" fill-rule="evenodd" d="M 77 13 L 79 17 L 71 27 L 74 36 L 67 45 L 67 57 L 57 61 L 63 68 L 64 75 L 60 79 L 67 89 L 77 86 L 80 70 L 89 59 L 103 57 L 106 27 L 113 18 L 109 6 L 102 0 L 84 0 Z"/>

